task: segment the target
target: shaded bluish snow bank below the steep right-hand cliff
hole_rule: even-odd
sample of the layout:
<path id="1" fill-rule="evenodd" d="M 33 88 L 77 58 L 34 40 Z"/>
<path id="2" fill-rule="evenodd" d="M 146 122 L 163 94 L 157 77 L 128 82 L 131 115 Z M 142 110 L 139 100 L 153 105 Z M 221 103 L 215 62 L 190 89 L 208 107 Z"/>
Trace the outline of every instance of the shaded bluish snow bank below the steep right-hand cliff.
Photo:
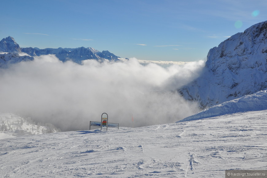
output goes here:
<path id="1" fill-rule="evenodd" d="M 267 90 L 257 92 L 252 95 L 226 101 L 222 104 L 212 106 L 192 116 L 186 117 L 183 121 L 192 121 L 207 117 L 216 117 L 225 114 L 232 114 L 246 111 L 260 111 L 267 109 Z"/>

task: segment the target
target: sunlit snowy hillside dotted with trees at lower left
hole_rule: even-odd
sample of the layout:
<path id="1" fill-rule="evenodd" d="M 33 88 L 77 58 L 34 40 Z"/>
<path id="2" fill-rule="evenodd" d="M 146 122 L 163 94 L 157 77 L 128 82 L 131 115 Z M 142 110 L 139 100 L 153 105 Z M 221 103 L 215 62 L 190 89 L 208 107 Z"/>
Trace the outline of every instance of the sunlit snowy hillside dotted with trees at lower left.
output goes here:
<path id="1" fill-rule="evenodd" d="M 59 131 L 51 124 L 34 123 L 30 118 L 12 113 L 0 113 L 0 140 L 24 135 L 53 133 Z"/>

